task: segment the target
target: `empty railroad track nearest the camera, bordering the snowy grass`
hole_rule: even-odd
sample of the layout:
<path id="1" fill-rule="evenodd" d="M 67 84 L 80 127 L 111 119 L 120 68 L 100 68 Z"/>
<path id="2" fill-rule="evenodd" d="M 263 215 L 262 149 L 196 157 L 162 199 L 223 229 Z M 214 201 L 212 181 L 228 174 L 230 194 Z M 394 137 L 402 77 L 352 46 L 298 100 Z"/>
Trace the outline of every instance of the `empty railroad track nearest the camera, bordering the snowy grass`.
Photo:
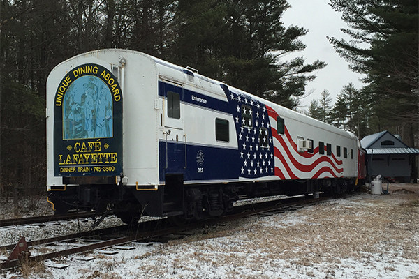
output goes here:
<path id="1" fill-rule="evenodd" d="M 170 234 L 178 234 L 184 236 L 185 232 L 191 232 L 194 229 L 202 228 L 207 225 L 216 225 L 224 223 L 228 220 L 256 216 L 256 218 L 286 211 L 293 211 L 309 204 L 318 204 L 336 197 L 320 197 L 318 199 L 304 199 L 304 197 L 293 197 L 290 199 L 272 200 L 269 202 L 261 202 L 258 204 L 246 204 L 235 206 L 232 213 L 221 218 L 212 218 L 201 220 L 194 223 L 182 225 L 182 227 L 173 226 L 168 219 L 152 220 L 138 223 L 136 227 L 128 225 L 111 227 L 108 229 L 98 229 L 91 232 L 80 232 L 78 234 L 69 234 L 66 236 L 58 236 L 50 239 L 41 239 L 38 241 L 28 242 L 29 248 L 35 248 L 38 245 L 55 243 L 54 246 L 60 246 L 64 249 L 54 250 L 52 252 L 40 253 L 31 256 L 26 260 L 33 262 L 41 262 L 46 259 L 53 259 L 66 255 L 74 255 L 81 252 L 87 252 L 96 249 L 104 249 L 112 246 L 123 246 L 132 241 L 147 241 L 152 239 L 164 238 Z M 91 237 L 94 236 L 94 240 Z M 83 239 L 90 239 L 88 241 Z M 64 242 L 66 241 L 66 242 Z M 69 242 L 68 242 L 69 241 Z M 75 245 L 71 245 L 71 241 L 77 241 Z M 0 250 L 11 250 L 15 245 L 1 246 Z M 66 248 L 71 246 L 70 248 Z M 48 246 L 51 249 L 52 245 Z M 0 263 L 0 269 L 10 269 L 22 264 L 22 260 L 13 259 L 8 262 Z"/>

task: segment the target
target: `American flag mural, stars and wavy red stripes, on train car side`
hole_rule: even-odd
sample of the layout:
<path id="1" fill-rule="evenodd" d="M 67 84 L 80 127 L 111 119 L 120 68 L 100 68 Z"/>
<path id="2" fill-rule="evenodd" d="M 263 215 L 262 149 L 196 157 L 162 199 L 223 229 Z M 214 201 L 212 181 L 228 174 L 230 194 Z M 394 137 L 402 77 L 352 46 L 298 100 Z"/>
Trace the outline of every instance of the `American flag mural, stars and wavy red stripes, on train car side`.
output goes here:
<path id="1" fill-rule="evenodd" d="M 286 125 L 284 135 L 277 133 L 279 115 L 272 107 L 234 89 L 229 90 L 227 96 L 235 107 L 233 117 L 238 133 L 240 177 L 317 179 L 343 176 L 343 162 L 334 153 L 320 155 L 318 146 L 313 153 L 298 151 Z M 324 148 L 326 151 L 326 146 Z"/>

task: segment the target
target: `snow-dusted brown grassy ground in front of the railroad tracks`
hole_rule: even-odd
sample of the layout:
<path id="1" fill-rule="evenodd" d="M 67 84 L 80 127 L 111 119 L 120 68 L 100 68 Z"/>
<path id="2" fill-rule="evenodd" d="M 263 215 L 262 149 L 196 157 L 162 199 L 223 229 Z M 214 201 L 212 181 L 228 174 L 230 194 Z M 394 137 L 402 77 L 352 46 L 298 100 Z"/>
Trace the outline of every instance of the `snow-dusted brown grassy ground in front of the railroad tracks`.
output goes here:
<path id="1" fill-rule="evenodd" d="M 25 267 L 6 278 L 419 278 L 419 186 L 242 218 L 168 243 L 131 243 Z M 20 231 L 22 232 L 22 231 Z M 15 233 L 20 233 L 17 230 Z M 1 233 L 1 229 L 0 229 Z M 32 233 L 32 232 L 31 232 Z M 69 264 L 54 269 L 54 264 Z"/>

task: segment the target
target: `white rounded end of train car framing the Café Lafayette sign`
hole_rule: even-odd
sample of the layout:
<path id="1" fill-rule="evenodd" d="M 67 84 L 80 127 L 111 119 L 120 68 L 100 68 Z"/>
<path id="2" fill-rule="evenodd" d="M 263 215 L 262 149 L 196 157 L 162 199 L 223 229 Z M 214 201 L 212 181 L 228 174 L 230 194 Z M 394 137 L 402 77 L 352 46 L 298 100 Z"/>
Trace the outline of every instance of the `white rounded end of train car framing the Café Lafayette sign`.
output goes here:
<path id="1" fill-rule="evenodd" d="M 158 178 L 157 67 L 151 56 L 129 50 L 98 50 L 75 56 L 56 66 L 47 79 L 47 186 L 62 185 L 54 176 L 54 97 L 71 69 L 95 63 L 118 75 L 123 100 L 123 167 L 128 183 L 156 185 Z M 115 70 L 116 69 L 116 70 Z M 149 105 L 144 105 L 149 104 Z"/>

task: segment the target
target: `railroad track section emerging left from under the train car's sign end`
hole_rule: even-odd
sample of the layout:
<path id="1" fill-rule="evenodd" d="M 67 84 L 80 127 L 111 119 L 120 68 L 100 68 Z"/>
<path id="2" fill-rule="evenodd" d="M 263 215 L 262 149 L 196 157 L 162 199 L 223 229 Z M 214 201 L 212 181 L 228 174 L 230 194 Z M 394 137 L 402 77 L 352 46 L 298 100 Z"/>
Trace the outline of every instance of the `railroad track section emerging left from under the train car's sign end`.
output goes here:
<path id="1" fill-rule="evenodd" d="M 74 212 L 65 215 L 47 215 L 47 216 L 34 216 L 24 218 L 13 218 L 0 220 L 0 227 L 29 225 L 35 223 L 47 223 L 61 220 L 71 220 L 77 218 L 90 218 L 96 215 L 95 212 Z"/>

